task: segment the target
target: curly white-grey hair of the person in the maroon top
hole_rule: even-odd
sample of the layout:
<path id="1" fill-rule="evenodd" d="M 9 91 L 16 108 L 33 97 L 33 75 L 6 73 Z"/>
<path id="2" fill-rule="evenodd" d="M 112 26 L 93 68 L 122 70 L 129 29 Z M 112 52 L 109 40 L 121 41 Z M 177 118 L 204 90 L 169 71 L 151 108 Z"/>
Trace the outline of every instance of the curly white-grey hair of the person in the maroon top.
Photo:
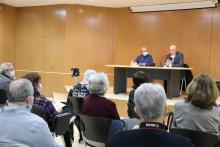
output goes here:
<path id="1" fill-rule="evenodd" d="M 88 79 L 88 83 L 89 93 L 97 94 L 100 96 L 103 96 L 107 92 L 109 86 L 107 75 L 101 72 L 92 74 Z"/>

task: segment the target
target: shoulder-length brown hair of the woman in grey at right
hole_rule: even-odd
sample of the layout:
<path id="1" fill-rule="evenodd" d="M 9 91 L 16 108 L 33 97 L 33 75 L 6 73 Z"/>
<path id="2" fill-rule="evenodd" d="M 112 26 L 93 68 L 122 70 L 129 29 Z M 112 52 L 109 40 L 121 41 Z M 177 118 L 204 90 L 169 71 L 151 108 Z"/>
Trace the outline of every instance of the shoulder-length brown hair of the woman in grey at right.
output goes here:
<path id="1" fill-rule="evenodd" d="M 187 87 L 187 102 L 202 109 L 212 109 L 216 105 L 219 91 L 216 83 L 208 75 L 196 76 Z"/>

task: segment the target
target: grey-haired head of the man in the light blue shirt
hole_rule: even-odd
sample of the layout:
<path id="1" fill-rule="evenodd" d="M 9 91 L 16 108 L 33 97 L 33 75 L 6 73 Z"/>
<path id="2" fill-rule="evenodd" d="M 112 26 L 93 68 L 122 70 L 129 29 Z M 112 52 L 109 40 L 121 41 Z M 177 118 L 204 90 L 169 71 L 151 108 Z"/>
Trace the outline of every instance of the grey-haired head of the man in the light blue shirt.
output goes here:
<path id="1" fill-rule="evenodd" d="M 11 82 L 9 92 L 10 101 L 25 101 L 26 98 L 33 96 L 34 89 L 29 80 L 19 79 Z"/>

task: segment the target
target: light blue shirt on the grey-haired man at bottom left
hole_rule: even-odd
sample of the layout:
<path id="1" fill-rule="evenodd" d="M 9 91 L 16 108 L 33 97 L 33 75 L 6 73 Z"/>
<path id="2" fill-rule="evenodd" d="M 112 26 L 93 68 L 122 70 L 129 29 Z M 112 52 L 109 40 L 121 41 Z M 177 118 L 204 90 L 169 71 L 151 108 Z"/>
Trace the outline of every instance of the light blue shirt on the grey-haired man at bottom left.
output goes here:
<path id="1" fill-rule="evenodd" d="M 0 111 L 0 142 L 10 140 L 30 147 L 57 147 L 46 122 L 26 106 Z"/>

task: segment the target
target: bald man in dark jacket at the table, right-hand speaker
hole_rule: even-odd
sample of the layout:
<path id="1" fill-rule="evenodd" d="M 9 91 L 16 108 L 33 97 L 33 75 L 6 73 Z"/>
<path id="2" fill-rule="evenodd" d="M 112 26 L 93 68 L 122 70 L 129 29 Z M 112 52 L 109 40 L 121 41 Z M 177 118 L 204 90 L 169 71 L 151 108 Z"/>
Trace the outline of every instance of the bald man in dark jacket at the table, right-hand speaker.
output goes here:
<path id="1" fill-rule="evenodd" d="M 166 55 L 164 66 L 165 67 L 183 67 L 184 56 L 177 51 L 176 45 L 170 46 L 170 53 Z"/>

